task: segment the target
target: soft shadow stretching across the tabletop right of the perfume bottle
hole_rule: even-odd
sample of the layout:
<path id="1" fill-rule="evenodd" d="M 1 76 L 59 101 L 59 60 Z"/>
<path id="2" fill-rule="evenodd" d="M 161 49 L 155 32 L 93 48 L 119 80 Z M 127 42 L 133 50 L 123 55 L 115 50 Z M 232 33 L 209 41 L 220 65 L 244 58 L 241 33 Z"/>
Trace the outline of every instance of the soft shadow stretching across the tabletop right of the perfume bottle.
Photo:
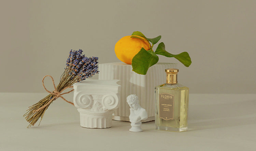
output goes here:
<path id="1" fill-rule="evenodd" d="M 203 130 L 256 124 L 256 100 L 227 104 L 192 105 L 188 130 Z"/>

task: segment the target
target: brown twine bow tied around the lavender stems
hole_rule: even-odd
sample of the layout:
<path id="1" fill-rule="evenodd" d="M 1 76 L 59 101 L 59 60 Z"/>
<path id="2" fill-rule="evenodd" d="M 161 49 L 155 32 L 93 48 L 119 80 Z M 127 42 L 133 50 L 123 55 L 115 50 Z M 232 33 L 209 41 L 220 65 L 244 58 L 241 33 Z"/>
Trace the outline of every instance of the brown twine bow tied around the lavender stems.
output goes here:
<path id="1" fill-rule="evenodd" d="M 45 86 L 44 86 L 44 78 L 46 78 L 46 77 L 50 77 L 50 78 L 52 79 L 52 81 L 53 81 L 54 90 L 53 90 L 52 92 L 49 91 L 49 90 L 47 90 L 47 89 L 45 88 Z M 50 103 L 52 103 L 52 101 L 53 101 L 54 99 L 57 99 L 57 98 L 59 98 L 59 97 L 62 98 L 64 101 L 68 102 L 69 104 L 74 105 L 74 103 L 72 103 L 72 102 L 70 102 L 70 101 L 68 101 L 68 100 L 66 100 L 65 98 L 62 97 L 63 94 L 68 94 L 68 93 L 72 92 L 74 89 L 72 89 L 72 90 L 70 90 L 70 91 L 68 91 L 68 92 L 66 92 L 66 93 L 61 93 L 61 92 L 64 91 L 65 89 L 71 88 L 71 87 L 73 87 L 73 86 L 68 86 L 68 87 L 63 88 L 61 91 L 58 91 L 58 90 L 56 89 L 56 86 L 55 86 L 53 77 L 52 77 L 51 75 L 45 75 L 44 78 L 43 78 L 43 80 L 42 80 L 42 84 L 43 84 L 44 89 L 45 89 L 48 93 L 53 94 L 53 95 L 55 95 L 55 96 L 54 96 L 50 101 L 48 101 L 48 103 L 46 103 L 44 106 L 38 108 L 37 110 L 35 110 L 35 111 L 33 111 L 33 112 L 41 111 L 43 108 L 45 108 L 45 107 L 48 106 Z"/>

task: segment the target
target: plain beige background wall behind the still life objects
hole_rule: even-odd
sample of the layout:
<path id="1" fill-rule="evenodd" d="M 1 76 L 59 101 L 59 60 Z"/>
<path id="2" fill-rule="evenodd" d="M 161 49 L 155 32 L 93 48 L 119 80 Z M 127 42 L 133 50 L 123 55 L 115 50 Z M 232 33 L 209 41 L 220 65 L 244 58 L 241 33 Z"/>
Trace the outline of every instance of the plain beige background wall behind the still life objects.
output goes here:
<path id="1" fill-rule="evenodd" d="M 42 78 L 58 83 L 70 49 L 118 62 L 115 43 L 141 31 L 190 54 L 188 68 L 159 57 L 178 63 L 190 93 L 255 93 L 255 8 L 255 0 L 1 1 L 0 92 L 44 92 Z"/>

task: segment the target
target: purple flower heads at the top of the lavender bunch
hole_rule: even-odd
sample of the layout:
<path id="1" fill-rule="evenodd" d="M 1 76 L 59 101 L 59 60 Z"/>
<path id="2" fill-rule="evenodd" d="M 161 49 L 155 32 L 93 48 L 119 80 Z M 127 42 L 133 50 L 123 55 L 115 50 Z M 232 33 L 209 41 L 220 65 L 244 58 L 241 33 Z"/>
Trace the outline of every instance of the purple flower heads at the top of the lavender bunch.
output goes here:
<path id="1" fill-rule="evenodd" d="M 98 71 L 98 57 L 86 57 L 82 54 L 82 50 L 72 50 L 69 52 L 67 59 L 67 67 L 69 70 L 70 80 L 77 79 L 78 81 L 92 77 Z"/>

